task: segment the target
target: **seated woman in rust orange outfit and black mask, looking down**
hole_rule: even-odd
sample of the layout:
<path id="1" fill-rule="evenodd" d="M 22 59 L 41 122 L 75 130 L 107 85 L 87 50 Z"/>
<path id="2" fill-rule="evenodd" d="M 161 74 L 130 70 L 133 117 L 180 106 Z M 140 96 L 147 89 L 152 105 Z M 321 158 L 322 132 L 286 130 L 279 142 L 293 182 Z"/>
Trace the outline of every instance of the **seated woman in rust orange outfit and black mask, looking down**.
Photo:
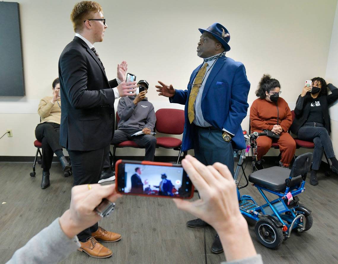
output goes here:
<path id="1" fill-rule="evenodd" d="M 281 85 L 278 80 L 264 74 L 256 90 L 256 99 L 250 107 L 250 126 L 252 132 L 267 129 L 279 136 L 279 139 L 262 136 L 257 139 L 256 168 L 262 168 L 262 157 L 269 151 L 273 142 L 279 145 L 282 167 L 289 167 L 296 150 L 296 143 L 288 133 L 292 124 L 292 115 L 287 102 L 279 97 Z"/>

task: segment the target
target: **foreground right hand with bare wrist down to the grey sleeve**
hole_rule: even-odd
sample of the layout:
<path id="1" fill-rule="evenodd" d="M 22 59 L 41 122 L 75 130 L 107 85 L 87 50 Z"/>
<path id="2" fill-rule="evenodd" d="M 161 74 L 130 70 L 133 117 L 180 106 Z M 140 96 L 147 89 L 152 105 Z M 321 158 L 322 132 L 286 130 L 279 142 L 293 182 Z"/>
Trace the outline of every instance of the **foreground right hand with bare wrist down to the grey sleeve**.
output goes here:
<path id="1" fill-rule="evenodd" d="M 177 208 L 208 222 L 217 231 L 227 261 L 256 255 L 248 225 L 238 206 L 237 190 L 228 168 L 221 163 L 204 166 L 190 155 L 182 166 L 199 192 L 193 202 L 174 199 Z M 241 246 L 238 246 L 238 245 Z"/>

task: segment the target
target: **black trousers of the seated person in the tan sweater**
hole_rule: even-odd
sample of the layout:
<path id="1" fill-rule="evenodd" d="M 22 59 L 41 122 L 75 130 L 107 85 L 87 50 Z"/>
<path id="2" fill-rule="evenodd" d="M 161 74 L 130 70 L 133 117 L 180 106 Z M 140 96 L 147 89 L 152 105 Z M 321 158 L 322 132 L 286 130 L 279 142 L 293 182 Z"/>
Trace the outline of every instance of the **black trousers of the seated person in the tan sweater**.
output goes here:
<path id="1" fill-rule="evenodd" d="M 56 123 L 41 123 L 35 128 L 35 137 L 42 143 L 41 168 L 49 170 L 52 165 L 53 155 L 61 149 L 60 125 Z"/>

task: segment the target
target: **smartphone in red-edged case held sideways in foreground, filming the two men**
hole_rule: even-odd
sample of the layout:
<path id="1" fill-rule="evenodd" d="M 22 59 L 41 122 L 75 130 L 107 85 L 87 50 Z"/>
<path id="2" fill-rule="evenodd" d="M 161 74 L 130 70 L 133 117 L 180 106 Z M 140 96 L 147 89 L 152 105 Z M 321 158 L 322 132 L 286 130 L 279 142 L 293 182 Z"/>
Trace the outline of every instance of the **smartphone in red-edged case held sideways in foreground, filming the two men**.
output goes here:
<path id="1" fill-rule="evenodd" d="M 181 165 L 166 162 L 118 160 L 116 191 L 126 195 L 190 199 L 194 186 Z"/>

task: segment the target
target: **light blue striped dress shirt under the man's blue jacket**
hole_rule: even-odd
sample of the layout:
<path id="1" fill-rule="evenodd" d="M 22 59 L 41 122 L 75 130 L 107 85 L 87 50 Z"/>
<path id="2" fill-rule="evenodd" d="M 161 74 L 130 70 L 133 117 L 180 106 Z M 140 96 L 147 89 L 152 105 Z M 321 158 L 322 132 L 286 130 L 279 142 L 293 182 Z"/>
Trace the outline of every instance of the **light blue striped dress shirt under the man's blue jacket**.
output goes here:
<path id="1" fill-rule="evenodd" d="M 219 53 L 221 54 L 221 53 Z M 217 56 L 219 54 L 213 55 L 213 56 Z M 212 56 L 212 57 L 213 57 Z M 209 57 L 211 58 L 211 57 Z M 204 58 L 204 59 L 208 59 L 208 58 Z M 204 62 L 205 63 L 205 62 Z M 204 65 L 203 63 L 203 65 Z M 211 124 L 209 124 L 204 118 L 203 118 L 203 113 L 202 113 L 202 108 L 201 108 L 201 103 L 202 103 L 202 94 L 203 94 L 203 90 L 204 90 L 204 86 L 206 84 L 206 81 L 209 77 L 210 72 L 212 71 L 212 68 L 214 67 L 215 63 L 216 63 L 216 59 L 213 59 L 212 61 L 208 61 L 206 62 L 207 65 L 207 69 L 206 69 L 206 74 L 203 77 L 203 82 L 202 82 L 202 86 L 199 88 L 195 103 L 194 103 L 194 112 L 195 112 L 195 119 L 193 121 L 193 123 L 197 126 L 202 126 L 202 127 L 210 127 Z M 202 65 L 202 67 L 203 67 Z M 195 79 L 194 79 L 195 81 Z M 194 83 L 193 81 L 193 83 Z M 234 134 L 230 133 L 228 130 L 226 130 L 225 128 L 222 129 L 223 131 L 229 133 L 230 135 L 235 136 Z"/>

